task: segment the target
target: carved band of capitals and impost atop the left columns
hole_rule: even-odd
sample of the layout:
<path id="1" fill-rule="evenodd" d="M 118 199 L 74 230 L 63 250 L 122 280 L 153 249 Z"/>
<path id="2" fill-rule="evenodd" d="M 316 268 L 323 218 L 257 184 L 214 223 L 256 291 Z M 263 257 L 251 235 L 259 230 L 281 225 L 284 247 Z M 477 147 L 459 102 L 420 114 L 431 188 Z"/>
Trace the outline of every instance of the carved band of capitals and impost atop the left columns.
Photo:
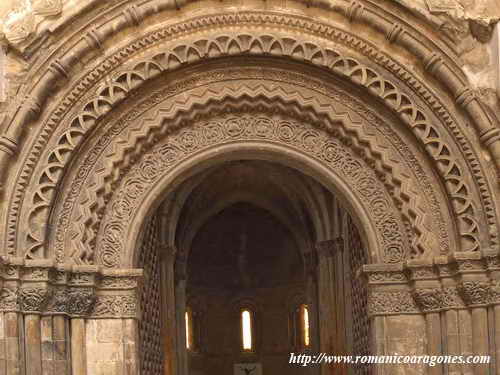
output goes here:
<path id="1" fill-rule="evenodd" d="M 0 259 L 0 311 L 92 318 L 136 318 L 142 270 L 55 266 L 52 261 Z"/>

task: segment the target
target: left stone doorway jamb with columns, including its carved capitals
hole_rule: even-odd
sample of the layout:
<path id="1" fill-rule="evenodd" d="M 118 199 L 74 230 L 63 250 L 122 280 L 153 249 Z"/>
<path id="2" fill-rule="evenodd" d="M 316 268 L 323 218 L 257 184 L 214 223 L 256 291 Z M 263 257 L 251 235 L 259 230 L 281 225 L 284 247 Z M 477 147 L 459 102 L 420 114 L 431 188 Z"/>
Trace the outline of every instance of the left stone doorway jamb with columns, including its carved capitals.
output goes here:
<path id="1" fill-rule="evenodd" d="M 141 275 L 0 258 L 0 373 L 138 374 Z"/>

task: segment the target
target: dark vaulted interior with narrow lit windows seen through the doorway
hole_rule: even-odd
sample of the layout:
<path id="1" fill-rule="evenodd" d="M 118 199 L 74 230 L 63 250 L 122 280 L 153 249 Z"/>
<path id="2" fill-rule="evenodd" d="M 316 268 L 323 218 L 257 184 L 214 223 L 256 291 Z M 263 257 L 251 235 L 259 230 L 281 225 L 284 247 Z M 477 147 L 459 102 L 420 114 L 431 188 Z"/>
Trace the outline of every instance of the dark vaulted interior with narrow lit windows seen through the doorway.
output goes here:
<path id="1" fill-rule="evenodd" d="M 169 374 L 230 373 L 240 365 L 319 374 L 319 367 L 289 367 L 290 351 L 368 354 L 367 291 L 354 284 L 349 292 L 338 289 L 359 282 L 355 275 L 369 256 L 354 219 L 317 174 L 299 161 L 290 164 L 290 155 L 276 158 L 281 152 L 264 145 L 247 152 L 241 144 L 232 146 L 218 150 L 222 159 L 202 155 L 208 163 L 184 169 L 195 172 L 168 184 L 175 188 L 163 190 L 142 226 L 137 266 L 164 275 L 160 286 L 145 284 L 144 293 L 156 288 L 165 297 L 145 299 L 149 305 L 141 321 L 148 323 L 139 325 L 141 345 L 157 342 L 159 332 L 160 341 L 166 340 L 156 356 L 142 358 L 143 369 L 163 358 Z M 144 247 L 151 230 L 160 247 Z M 148 261 L 150 251 L 157 254 L 154 262 Z M 343 271 L 331 274 L 325 266 Z M 325 297 L 324 288 L 336 297 Z M 348 307 L 351 298 L 364 302 Z M 300 326 L 303 306 L 307 343 Z M 151 309 L 165 312 L 169 326 L 163 331 L 148 328 L 156 319 Z M 251 316 L 248 348 L 242 346 L 242 311 Z M 326 316 L 331 321 L 320 324 Z M 342 329 L 329 332 L 333 327 Z M 194 335 L 189 347 L 186 332 Z"/>

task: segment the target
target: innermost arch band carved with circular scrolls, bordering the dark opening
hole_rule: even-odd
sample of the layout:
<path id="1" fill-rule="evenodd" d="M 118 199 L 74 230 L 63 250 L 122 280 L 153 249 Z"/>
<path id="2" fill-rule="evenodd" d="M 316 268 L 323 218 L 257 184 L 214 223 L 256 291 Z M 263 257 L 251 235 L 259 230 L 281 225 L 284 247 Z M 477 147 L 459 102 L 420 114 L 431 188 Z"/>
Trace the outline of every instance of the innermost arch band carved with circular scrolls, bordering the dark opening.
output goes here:
<path id="1" fill-rule="evenodd" d="M 390 263 L 405 258 L 398 214 L 389 202 L 388 194 L 373 171 L 351 151 L 324 132 L 293 118 L 262 112 L 235 112 L 175 132 L 143 155 L 139 163 L 131 165 L 130 171 L 120 178 L 103 212 L 102 224 L 98 226 L 100 234 L 96 251 L 99 263 L 106 267 L 118 267 L 122 263 L 121 257 L 127 248 L 130 249 L 126 233 L 129 233 L 134 212 L 162 176 L 195 153 L 235 142 L 255 143 L 256 149 L 266 143 L 279 144 L 324 163 L 353 186 L 359 198 L 368 202 L 366 212 L 371 213 L 380 248 L 384 251 L 381 258 Z"/>

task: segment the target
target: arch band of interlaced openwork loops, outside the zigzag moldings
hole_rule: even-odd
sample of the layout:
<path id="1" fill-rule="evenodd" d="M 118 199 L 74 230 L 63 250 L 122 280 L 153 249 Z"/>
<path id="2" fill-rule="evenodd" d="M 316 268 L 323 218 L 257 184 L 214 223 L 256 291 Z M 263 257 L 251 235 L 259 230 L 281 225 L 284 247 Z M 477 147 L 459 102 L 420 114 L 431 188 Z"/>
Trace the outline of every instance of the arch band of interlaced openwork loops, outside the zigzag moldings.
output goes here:
<path id="1" fill-rule="evenodd" d="M 244 53 L 259 55 L 269 53 L 276 56 L 291 56 L 296 59 L 310 60 L 319 66 L 327 66 L 333 72 L 348 76 L 355 83 L 366 86 L 372 93 L 387 101 L 409 126 L 417 137 L 426 145 L 429 154 L 438 163 L 437 170 L 443 175 L 444 185 L 454 202 L 455 215 L 458 218 L 457 227 L 463 238 L 462 250 L 476 250 L 479 246 L 479 226 L 473 198 L 470 197 L 470 187 L 461 177 L 463 167 L 450 157 L 451 150 L 440 139 L 439 130 L 428 120 L 427 115 L 420 111 L 411 101 L 410 97 L 403 94 L 395 84 L 381 78 L 375 71 L 359 64 L 353 58 L 346 58 L 338 52 L 320 48 L 312 42 L 298 42 L 290 38 L 277 37 L 270 34 L 237 36 L 222 35 L 212 40 L 201 39 L 198 41 L 180 42 L 179 47 L 173 47 L 172 53 L 153 55 L 148 60 L 135 63 L 132 70 L 124 73 L 115 73 L 115 80 L 100 89 L 96 94 L 97 99 L 92 99 L 84 107 L 84 112 L 72 122 L 71 128 L 63 133 L 57 141 L 57 146 L 47 156 L 47 167 L 39 177 L 39 188 L 33 194 L 32 209 L 29 213 L 30 222 L 38 222 L 39 217 L 44 217 L 50 202 L 51 191 L 57 186 L 57 170 L 62 169 L 65 161 L 69 159 L 68 151 L 76 148 L 78 140 L 95 122 L 105 114 L 114 103 L 120 102 L 127 93 L 136 88 L 144 80 L 154 78 L 159 73 L 184 64 L 194 62 L 201 58 L 218 57 L 223 55 L 239 55 Z M 213 50 L 213 52 L 211 52 Z M 50 162 L 52 160 L 52 162 Z M 414 212 L 410 215 L 418 215 Z M 42 241 L 39 230 L 28 233 L 27 243 L 29 250 L 27 257 L 36 258 L 36 253 L 41 250 Z M 418 247 L 418 241 L 415 244 Z M 418 252 L 418 250 L 417 250 Z"/>

